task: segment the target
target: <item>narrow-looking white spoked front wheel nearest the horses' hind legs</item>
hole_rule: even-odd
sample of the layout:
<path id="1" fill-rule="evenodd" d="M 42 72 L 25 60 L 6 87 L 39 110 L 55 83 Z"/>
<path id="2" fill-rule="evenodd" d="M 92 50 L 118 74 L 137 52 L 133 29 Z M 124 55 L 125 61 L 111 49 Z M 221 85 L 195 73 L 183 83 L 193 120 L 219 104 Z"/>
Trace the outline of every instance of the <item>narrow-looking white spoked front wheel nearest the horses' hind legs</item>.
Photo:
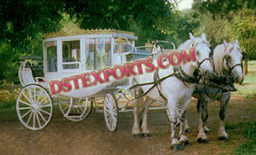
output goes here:
<path id="1" fill-rule="evenodd" d="M 115 131 L 117 128 L 118 108 L 116 97 L 112 94 L 107 94 L 104 100 L 104 116 L 109 131 Z"/>

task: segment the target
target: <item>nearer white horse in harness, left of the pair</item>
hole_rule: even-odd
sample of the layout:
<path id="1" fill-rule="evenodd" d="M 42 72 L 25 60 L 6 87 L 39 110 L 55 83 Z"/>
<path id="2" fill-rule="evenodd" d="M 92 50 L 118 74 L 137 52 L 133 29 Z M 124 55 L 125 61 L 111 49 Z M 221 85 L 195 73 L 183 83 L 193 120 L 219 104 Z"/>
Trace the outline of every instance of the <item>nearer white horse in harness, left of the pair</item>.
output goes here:
<path id="1" fill-rule="evenodd" d="M 196 68 L 199 69 L 200 73 L 204 75 L 204 77 L 211 77 L 213 74 L 212 66 L 209 60 L 210 49 L 208 47 L 208 42 L 206 40 L 205 34 L 201 37 L 194 37 L 192 34 L 189 34 L 190 39 L 185 43 L 182 43 L 179 47 L 180 50 L 190 51 L 191 48 L 194 48 L 196 51 L 197 62 L 190 61 L 186 64 L 181 64 L 180 68 L 184 73 L 186 73 L 189 77 L 193 77 L 193 73 Z M 145 73 L 145 72 L 144 72 Z M 159 79 L 166 77 L 169 74 L 173 73 L 173 67 L 169 66 L 166 69 L 158 70 Z M 134 77 L 133 84 L 140 84 L 151 82 L 154 79 L 154 73 L 149 74 L 140 74 L 139 76 Z M 152 85 L 143 85 L 134 89 L 135 91 L 132 93 L 133 96 L 138 97 L 143 92 L 147 92 L 148 89 L 151 88 Z M 148 135 L 148 109 L 149 105 L 151 105 L 154 101 L 166 102 L 167 107 L 171 113 L 171 125 L 172 125 L 172 136 L 171 136 L 171 147 L 174 150 L 180 150 L 180 144 L 188 143 L 188 138 L 185 136 L 184 130 L 184 112 L 186 111 L 191 99 L 192 93 L 195 89 L 195 83 L 188 83 L 186 81 L 180 81 L 176 76 L 169 77 L 164 81 L 158 83 L 158 86 L 154 89 L 151 89 L 146 95 L 146 100 L 144 103 L 144 109 L 142 112 L 142 124 L 139 125 L 138 114 L 139 114 L 139 99 L 134 100 L 133 103 L 133 115 L 134 115 L 134 123 L 132 127 L 132 135 Z M 158 90 L 158 89 L 160 90 Z M 164 99 L 164 97 L 166 100 Z M 177 106 L 180 103 L 180 113 L 178 112 Z M 180 125 L 180 141 L 176 136 L 176 126 L 178 119 L 181 116 L 181 125 Z M 141 131 L 140 131 L 141 128 Z"/>

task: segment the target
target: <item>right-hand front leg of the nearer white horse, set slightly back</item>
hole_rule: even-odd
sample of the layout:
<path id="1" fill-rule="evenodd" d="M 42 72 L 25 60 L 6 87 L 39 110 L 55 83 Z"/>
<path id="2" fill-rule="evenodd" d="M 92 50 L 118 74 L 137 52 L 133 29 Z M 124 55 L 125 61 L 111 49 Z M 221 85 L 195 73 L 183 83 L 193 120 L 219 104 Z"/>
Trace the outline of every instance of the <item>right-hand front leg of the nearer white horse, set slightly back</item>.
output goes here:
<path id="1" fill-rule="evenodd" d="M 180 143 L 181 145 L 189 145 L 188 137 L 185 135 L 185 126 L 186 126 L 186 109 L 188 108 L 191 99 L 188 99 L 184 104 L 180 106 Z"/>

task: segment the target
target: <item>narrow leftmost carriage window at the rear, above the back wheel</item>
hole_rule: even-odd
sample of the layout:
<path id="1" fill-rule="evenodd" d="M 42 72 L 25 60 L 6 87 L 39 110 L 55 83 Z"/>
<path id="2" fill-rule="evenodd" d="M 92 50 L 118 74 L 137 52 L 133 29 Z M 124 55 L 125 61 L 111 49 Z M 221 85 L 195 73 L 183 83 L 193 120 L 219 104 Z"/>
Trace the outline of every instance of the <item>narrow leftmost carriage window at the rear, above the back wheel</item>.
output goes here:
<path id="1" fill-rule="evenodd" d="M 57 72 L 57 42 L 44 43 L 46 50 L 47 72 Z"/>

